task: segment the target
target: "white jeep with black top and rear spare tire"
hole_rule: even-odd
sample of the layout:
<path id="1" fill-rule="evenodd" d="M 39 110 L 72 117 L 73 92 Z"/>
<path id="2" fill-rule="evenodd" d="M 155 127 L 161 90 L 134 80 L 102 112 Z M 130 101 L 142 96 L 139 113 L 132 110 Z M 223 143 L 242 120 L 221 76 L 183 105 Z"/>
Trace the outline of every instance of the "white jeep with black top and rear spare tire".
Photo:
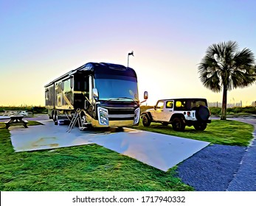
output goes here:
<path id="1" fill-rule="evenodd" d="M 159 122 L 165 126 L 172 124 L 176 131 L 184 131 L 186 126 L 203 131 L 211 122 L 207 100 L 199 98 L 161 99 L 153 109 L 143 112 L 141 118 L 144 127 Z"/>

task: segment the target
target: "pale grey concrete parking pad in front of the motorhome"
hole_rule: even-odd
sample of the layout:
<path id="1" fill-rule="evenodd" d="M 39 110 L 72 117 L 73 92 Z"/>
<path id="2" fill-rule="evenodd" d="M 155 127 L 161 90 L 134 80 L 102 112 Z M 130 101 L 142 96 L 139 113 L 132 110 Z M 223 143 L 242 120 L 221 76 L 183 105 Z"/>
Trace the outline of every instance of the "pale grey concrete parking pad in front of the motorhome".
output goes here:
<path id="1" fill-rule="evenodd" d="M 100 146 L 133 157 L 142 163 L 167 171 L 192 156 L 209 143 L 178 138 L 153 132 L 125 129 L 125 132 L 81 132 L 78 128 L 66 132 L 67 126 L 52 121 L 29 128 L 10 127 L 15 152 L 54 149 L 97 143 Z"/>

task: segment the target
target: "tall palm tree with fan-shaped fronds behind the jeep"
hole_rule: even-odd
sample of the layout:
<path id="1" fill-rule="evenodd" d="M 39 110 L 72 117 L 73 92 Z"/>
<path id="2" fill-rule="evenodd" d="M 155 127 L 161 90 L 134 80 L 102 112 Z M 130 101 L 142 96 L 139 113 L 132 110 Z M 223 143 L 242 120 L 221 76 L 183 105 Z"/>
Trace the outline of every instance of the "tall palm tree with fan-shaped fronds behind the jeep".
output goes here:
<path id="1" fill-rule="evenodd" d="M 198 73 L 206 88 L 213 92 L 223 90 L 221 120 L 225 120 L 227 90 L 245 88 L 255 82 L 255 57 L 250 49 L 238 51 L 235 41 L 214 43 L 199 63 Z"/>

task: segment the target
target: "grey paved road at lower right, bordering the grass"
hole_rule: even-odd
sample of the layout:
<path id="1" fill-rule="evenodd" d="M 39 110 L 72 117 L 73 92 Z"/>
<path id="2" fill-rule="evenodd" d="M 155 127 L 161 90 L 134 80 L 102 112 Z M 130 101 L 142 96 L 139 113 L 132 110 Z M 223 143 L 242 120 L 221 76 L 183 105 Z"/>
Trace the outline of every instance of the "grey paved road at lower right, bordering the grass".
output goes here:
<path id="1" fill-rule="evenodd" d="M 229 118 L 255 126 L 248 147 L 214 144 L 178 167 L 179 177 L 196 191 L 256 191 L 256 118 Z"/>

